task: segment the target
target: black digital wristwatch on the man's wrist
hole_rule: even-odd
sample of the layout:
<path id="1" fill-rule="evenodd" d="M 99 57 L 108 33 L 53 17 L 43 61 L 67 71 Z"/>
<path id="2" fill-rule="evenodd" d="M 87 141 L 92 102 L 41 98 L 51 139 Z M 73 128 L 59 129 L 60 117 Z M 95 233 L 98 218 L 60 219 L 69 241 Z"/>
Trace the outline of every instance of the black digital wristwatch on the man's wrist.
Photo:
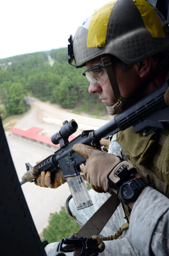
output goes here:
<path id="1" fill-rule="evenodd" d="M 148 184 L 143 178 L 124 182 L 119 188 L 118 196 L 124 204 L 135 202 L 145 186 L 148 186 Z"/>

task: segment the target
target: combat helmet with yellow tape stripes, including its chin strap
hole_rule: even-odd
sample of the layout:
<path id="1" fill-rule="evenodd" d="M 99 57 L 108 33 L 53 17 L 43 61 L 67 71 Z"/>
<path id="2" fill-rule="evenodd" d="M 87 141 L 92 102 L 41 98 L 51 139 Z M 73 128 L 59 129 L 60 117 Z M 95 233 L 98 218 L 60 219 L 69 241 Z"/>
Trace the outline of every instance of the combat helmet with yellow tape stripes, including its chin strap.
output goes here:
<path id="1" fill-rule="evenodd" d="M 73 40 L 70 37 L 69 63 L 74 59 L 76 67 L 81 68 L 100 57 L 116 100 L 107 110 L 119 113 L 126 99 L 120 95 L 111 66 L 113 59 L 133 64 L 168 49 L 168 31 L 167 21 L 146 0 L 113 0 L 94 11 L 78 27 Z"/>

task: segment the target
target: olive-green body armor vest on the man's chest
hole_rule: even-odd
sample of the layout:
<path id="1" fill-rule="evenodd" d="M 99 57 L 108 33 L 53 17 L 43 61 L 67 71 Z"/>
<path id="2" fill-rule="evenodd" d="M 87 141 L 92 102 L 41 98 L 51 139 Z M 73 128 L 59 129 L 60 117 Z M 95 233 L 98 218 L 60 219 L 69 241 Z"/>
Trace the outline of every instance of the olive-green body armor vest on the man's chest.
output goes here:
<path id="1" fill-rule="evenodd" d="M 117 133 L 117 142 L 149 186 L 169 198 L 169 130 L 158 130 L 144 137 L 130 127 Z M 123 209 L 129 222 L 131 210 L 127 205 Z"/>

